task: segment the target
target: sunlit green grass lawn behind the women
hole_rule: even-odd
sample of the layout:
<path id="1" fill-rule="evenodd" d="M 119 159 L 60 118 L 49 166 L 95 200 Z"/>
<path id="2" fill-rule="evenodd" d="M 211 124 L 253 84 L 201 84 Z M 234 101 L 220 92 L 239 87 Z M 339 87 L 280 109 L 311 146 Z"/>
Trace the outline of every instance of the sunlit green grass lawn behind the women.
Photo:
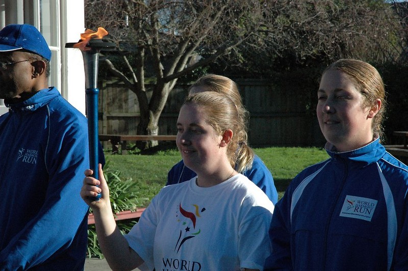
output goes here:
<path id="1" fill-rule="evenodd" d="M 302 169 L 328 158 L 321 148 L 269 147 L 255 148 L 271 171 L 276 189 L 281 198 L 293 177 Z M 179 151 L 174 146 L 152 149 L 149 153 L 126 155 L 105 154 L 109 167 L 120 171 L 120 178 L 132 178 L 139 186 L 140 206 L 146 206 L 152 197 L 166 184 L 167 172 L 180 161 Z"/>

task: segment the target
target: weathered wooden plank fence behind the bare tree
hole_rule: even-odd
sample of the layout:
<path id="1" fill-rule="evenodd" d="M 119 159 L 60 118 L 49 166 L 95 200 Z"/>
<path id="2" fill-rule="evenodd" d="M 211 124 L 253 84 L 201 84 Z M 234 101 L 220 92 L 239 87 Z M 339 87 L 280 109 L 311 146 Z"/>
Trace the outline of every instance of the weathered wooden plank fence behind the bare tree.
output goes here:
<path id="1" fill-rule="evenodd" d="M 299 95 L 291 82 L 277 86 L 268 80 L 236 80 L 250 113 L 249 144 L 261 146 L 323 146 L 311 95 Z M 99 133 L 136 134 L 139 105 L 136 95 L 115 81 L 100 84 Z M 159 121 L 159 134 L 176 134 L 176 121 L 189 85 L 170 92 Z M 147 89 L 148 86 L 147 86 Z M 147 91 L 148 97 L 151 91 Z M 313 94 L 316 99 L 316 94 Z"/>

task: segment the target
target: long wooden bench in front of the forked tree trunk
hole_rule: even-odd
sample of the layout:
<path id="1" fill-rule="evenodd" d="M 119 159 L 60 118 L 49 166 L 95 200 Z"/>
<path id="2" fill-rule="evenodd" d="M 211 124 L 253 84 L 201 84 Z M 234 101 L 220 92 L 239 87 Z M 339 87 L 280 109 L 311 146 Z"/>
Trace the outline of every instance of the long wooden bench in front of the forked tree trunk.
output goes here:
<path id="1" fill-rule="evenodd" d="M 158 140 L 158 141 L 175 141 L 177 136 L 174 135 L 164 135 L 164 136 L 147 136 L 147 135 L 128 135 L 128 134 L 99 134 L 99 141 L 110 141 L 112 144 L 112 153 L 126 154 L 126 144 L 127 141 L 148 141 L 148 140 Z M 118 150 L 118 145 L 120 145 L 120 152 Z"/>

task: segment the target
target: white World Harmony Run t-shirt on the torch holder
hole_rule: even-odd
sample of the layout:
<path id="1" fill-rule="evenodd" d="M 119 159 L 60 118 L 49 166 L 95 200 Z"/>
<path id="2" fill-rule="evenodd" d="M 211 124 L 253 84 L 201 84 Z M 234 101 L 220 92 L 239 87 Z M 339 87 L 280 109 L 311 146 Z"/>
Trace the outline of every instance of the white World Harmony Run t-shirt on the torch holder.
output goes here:
<path id="1" fill-rule="evenodd" d="M 263 269 L 274 206 L 241 174 L 212 187 L 195 178 L 164 187 L 129 234 L 149 269 Z"/>

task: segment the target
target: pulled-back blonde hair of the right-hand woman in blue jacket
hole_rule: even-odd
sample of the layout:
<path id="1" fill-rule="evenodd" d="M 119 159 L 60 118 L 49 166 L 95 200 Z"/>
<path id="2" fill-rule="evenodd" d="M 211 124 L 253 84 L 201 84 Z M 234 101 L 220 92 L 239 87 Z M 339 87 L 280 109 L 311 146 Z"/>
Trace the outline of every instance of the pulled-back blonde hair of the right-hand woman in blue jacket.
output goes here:
<path id="1" fill-rule="evenodd" d="M 323 74 L 330 69 L 345 73 L 354 82 L 356 89 L 363 95 L 365 109 L 374 106 L 376 99 L 381 100 L 381 108 L 372 121 L 372 130 L 381 138 L 383 135 L 382 121 L 384 121 L 387 102 L 384 82 L 377 69 L 367 62 L 355 59 L 340 59 L 329 65 Z"/>

